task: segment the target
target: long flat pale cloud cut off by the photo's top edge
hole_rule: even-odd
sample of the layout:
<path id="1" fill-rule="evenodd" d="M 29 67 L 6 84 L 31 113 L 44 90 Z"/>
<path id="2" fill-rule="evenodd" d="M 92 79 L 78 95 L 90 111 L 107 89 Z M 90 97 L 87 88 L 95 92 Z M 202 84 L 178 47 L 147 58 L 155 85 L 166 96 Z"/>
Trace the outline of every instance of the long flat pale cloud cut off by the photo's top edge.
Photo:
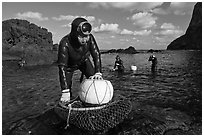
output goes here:
<path id="1" fill-rule="evenodd" d="M 95 2 L 89 3 L 91 8 L 119 8 L 124 10 L 149 10 L 161 5 L 162 2 Z"/>

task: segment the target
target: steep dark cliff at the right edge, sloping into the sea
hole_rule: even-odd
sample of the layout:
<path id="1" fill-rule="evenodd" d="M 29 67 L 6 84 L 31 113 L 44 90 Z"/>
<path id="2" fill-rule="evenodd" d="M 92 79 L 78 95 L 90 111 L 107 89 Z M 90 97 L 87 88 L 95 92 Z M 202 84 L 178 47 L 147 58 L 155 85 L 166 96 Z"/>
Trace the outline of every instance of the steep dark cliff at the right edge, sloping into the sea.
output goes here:
<path id="1" fill-rule="evenodd" d="M 202 50 L 202 3 L 194 6 L 186 33 L 167 46 L 167 50 Z"/>

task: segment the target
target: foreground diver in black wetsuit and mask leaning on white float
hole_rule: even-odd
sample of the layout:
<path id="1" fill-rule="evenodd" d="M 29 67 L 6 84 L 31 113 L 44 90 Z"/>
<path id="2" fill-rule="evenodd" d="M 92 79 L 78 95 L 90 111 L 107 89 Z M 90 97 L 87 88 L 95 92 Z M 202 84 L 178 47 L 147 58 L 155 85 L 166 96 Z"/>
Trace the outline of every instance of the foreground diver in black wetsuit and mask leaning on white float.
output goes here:
<path id="1" fill-rule="evenodd" d="M 74 71 L 79 69 L 86 78 L 102 79 L 101 55 L 91 30 L 91 24 L 86 19 L 78 17 L 71 24 L 71 32 L 59 43 L 58 67 L 62 92 L 60 105 L 70 102 Z M 90 56 L 93 58 L 94 66 Z"/>

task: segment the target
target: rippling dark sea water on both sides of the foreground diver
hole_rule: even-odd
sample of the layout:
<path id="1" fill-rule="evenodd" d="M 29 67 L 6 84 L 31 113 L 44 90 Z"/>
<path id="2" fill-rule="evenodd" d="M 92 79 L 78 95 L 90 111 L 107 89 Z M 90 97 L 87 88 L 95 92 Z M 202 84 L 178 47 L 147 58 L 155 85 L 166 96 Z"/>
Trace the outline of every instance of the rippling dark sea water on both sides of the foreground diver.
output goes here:
<path id="1" fill-rule="evenodd" d="M 112 71 L 116 55 L 124 63 L 125 72 L 122 74 Z M 131 100 L 133 112 L 157 118 L 166 114 L 165 121 L 174 120 L 173 123 L 185 123 L 186 119 L 190 119 L 191 124 L 201 123 L 202 52 L 164 50 L 154 53 L 158 60 L 155 73 L 151 72 L 150 55 L 152 53 L 147 51 L 138 54 L 102 54 L 103 78 L 111 81 L 114 94 Z M 131 71 L 131 65 L 137 66 L 136 72 Z M 80 74 L 79 71 L 74 74 L 73 92 L 79 90 Z M 18 119 L 40 114 L 54 106 L 60 95 L 56 64 L 19 69 L 12 62 L 3 62 L 2 129 L 5 130 Z M 129 125 L 126 126 L 128 128 Z"/>

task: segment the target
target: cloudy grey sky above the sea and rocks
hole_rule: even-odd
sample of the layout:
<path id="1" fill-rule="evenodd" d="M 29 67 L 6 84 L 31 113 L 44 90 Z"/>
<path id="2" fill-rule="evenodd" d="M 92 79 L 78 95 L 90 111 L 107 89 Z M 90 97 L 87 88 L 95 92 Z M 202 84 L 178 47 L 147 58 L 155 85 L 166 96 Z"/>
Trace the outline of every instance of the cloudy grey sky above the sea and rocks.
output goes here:
<path id="1" fill-rule="evenodd" d="M 53 43 L 76 17 L 93 27 L 99 49 L 166 49 L 185 34 L 195 2 L 2 2 L 2 21 L 25 19 L 47 28 Z"/>

